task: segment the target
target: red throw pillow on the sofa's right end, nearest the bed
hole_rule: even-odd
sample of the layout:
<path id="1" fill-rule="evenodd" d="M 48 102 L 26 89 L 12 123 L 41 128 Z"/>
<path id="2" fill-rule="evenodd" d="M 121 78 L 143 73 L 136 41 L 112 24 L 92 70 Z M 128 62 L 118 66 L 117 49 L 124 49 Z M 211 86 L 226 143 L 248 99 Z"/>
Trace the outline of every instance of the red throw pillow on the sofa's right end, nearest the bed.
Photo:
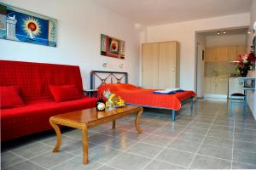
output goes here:
<path id="1" fill-rule="evenodd" d="M 79 89 L 74 84 L 64 86 L 49 85 L 49 89 L 56 102 L 82 99 L 83 97 L 79 93 Z"/>

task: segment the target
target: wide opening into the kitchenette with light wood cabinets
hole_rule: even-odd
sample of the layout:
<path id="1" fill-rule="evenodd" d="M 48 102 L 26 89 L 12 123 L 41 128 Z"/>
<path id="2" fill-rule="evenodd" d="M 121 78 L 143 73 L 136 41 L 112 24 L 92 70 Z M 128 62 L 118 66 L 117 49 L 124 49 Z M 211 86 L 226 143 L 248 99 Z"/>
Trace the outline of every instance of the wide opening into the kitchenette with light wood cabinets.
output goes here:
<path id="1" fill-rule="evenodd" d="M 227 99 L 237 79 L 237 55 L 247 51 L 247 28 L 196 32 L 195 90 L 198 98 Z"/>

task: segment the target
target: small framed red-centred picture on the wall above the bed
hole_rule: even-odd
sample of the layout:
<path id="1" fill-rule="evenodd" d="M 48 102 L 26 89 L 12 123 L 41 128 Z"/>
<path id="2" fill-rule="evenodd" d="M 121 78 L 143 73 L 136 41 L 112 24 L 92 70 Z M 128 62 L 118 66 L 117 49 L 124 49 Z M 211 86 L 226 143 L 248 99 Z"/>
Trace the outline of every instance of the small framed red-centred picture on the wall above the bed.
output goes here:
<path id="1" fill-rule="evenodd" d="M 101 54 L 117 59 L 125 59 L 125 42 L 101 34 Z"/>

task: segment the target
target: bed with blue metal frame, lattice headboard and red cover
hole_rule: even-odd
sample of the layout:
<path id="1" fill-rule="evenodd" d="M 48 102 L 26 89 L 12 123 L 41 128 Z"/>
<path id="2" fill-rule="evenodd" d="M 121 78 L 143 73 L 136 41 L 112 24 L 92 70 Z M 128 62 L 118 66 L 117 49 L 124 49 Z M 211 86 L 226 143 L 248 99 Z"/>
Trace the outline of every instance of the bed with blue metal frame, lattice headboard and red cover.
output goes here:
<path id="1" fill-rule="evenodd" d="M 127 105 L 138 105 L 148 108 L 158 108 L 172 111 L 172 121 L 175 121 L 175 112 L 182 105 L 190 102 L 193 109 L 195 92 L 184 91 L 176 94 L 154 94 L 156 89 L 138 88 L 128 82 L 127 72 L 116 71 L 90 71 L 90 88 L 98 89 L 98 94 L 109 89 L 113 94 L 119 95 Z"/>

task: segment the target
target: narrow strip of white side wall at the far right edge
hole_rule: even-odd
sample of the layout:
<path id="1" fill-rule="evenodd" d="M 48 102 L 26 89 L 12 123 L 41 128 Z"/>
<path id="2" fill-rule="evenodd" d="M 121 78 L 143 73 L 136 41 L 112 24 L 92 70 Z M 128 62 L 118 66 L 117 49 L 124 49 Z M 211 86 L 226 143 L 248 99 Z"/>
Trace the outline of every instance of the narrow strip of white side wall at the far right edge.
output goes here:
<path id="1" fill-rule="evenodd" d="M 250 21 L 250 27 L 253 28 L 253 23 L 256 21 L 256 0 L 252 1 L 252 6 L 251 6 L 251 21 Z M 247 37 L 247 47 L 250 50 L 250 47 L 252 45 L 253 42 L 253 36 L 255 36 L 255 34 L 250 34 Z M 249 77 L 256 77 L 256 67 L 254 71 L 250 71 L 249 72 Z M 248 91 L 247 93 L 247 103 L 251 109 L 251 111 L 253 111 L 253 116 L 254 119 L 256 120 L 256 89 L 254 91 Z"/>

